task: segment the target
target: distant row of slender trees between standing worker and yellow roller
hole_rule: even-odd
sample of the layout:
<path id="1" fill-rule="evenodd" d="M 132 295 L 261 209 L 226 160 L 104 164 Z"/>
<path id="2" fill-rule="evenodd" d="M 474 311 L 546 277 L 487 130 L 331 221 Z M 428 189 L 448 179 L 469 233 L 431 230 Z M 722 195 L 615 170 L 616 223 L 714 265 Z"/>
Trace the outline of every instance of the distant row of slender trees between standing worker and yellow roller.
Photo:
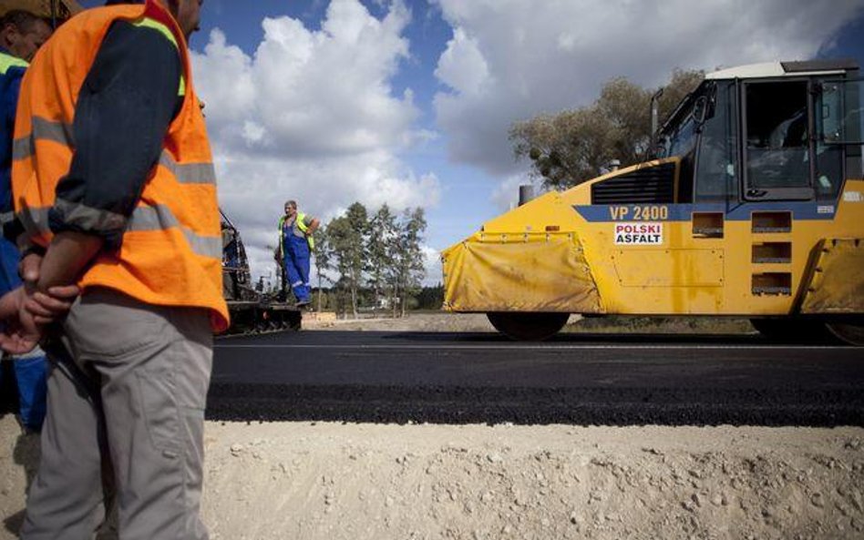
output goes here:
<path id="1" fill-rule="evenodd" d="M 405 316 L 417 305 L 426 277 L 421 248 L 427 222 L 422 208 L 394 213 L 386 204 L 375 213 L 355 202 L 345 214 L 315 232 L 317 308 L 357 316 L 363 301 L 375 310 Z M 332 305 L 335 304 L 335 305 Z M 339 310 L 341 308 L 341 310 Z"/>

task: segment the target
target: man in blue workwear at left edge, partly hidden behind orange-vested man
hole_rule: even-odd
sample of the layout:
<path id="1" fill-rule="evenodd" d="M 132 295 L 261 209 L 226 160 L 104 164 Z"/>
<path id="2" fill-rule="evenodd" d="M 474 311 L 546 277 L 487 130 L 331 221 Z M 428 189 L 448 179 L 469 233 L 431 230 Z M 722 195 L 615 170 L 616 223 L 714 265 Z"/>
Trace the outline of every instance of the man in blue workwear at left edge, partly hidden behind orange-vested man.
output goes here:
<path id="1" fill-rule="evenodd" d="M 12 137 L 18 89 L 30 59 L 51 36 L 51 26 L 38 16 L 12 10 L 0 18 L 0 226 L 13 219 Z M 20 255 L 11 241 L 0 236 L 0 295 L 21 285 Z M 45 419 L 47 361 L 45 352 L 10 355 L 18 388 L 18 417 L 26 429 L 38 432 Z M 0 371 L 0 381 L 3 372 Z"/>

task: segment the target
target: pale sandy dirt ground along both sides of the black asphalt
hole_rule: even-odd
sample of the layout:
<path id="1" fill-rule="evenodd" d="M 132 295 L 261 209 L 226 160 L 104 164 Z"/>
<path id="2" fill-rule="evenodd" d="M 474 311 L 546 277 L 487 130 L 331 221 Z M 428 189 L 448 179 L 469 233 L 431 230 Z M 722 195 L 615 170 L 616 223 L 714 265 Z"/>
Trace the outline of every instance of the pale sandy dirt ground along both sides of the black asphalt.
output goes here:
<path id="1" fill-rule="evenodd" d="M 380 329 L 331 328 L 351 325 Z M 205 437 L 213 539 L 864 538 L 861 428 L 209 422 Z M 37 456 L 0 418 L 0 540 Z"/>

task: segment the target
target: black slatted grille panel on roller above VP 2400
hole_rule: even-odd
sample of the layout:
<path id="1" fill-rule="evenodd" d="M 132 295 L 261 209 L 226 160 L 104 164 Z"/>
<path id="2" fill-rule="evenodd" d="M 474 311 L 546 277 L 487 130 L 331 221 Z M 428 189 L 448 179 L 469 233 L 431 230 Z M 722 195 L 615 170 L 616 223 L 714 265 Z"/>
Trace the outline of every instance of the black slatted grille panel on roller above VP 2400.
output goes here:
<path id="1" fill-rule="evenodd" d="M 591 186 L 591 204 L 673 203 L 674 199 L 674 162 L 639 168 Z"/>

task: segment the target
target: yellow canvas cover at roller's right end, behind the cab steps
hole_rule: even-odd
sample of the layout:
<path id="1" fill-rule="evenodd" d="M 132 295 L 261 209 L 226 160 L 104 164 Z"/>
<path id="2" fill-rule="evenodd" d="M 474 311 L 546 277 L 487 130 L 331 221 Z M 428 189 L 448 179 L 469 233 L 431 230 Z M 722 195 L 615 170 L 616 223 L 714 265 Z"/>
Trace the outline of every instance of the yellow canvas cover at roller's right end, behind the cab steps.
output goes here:
<path id="1" fill-rule="evenodd" d="M 864 313 L 864 239 L 822 242 L 801 312 Z"/>

